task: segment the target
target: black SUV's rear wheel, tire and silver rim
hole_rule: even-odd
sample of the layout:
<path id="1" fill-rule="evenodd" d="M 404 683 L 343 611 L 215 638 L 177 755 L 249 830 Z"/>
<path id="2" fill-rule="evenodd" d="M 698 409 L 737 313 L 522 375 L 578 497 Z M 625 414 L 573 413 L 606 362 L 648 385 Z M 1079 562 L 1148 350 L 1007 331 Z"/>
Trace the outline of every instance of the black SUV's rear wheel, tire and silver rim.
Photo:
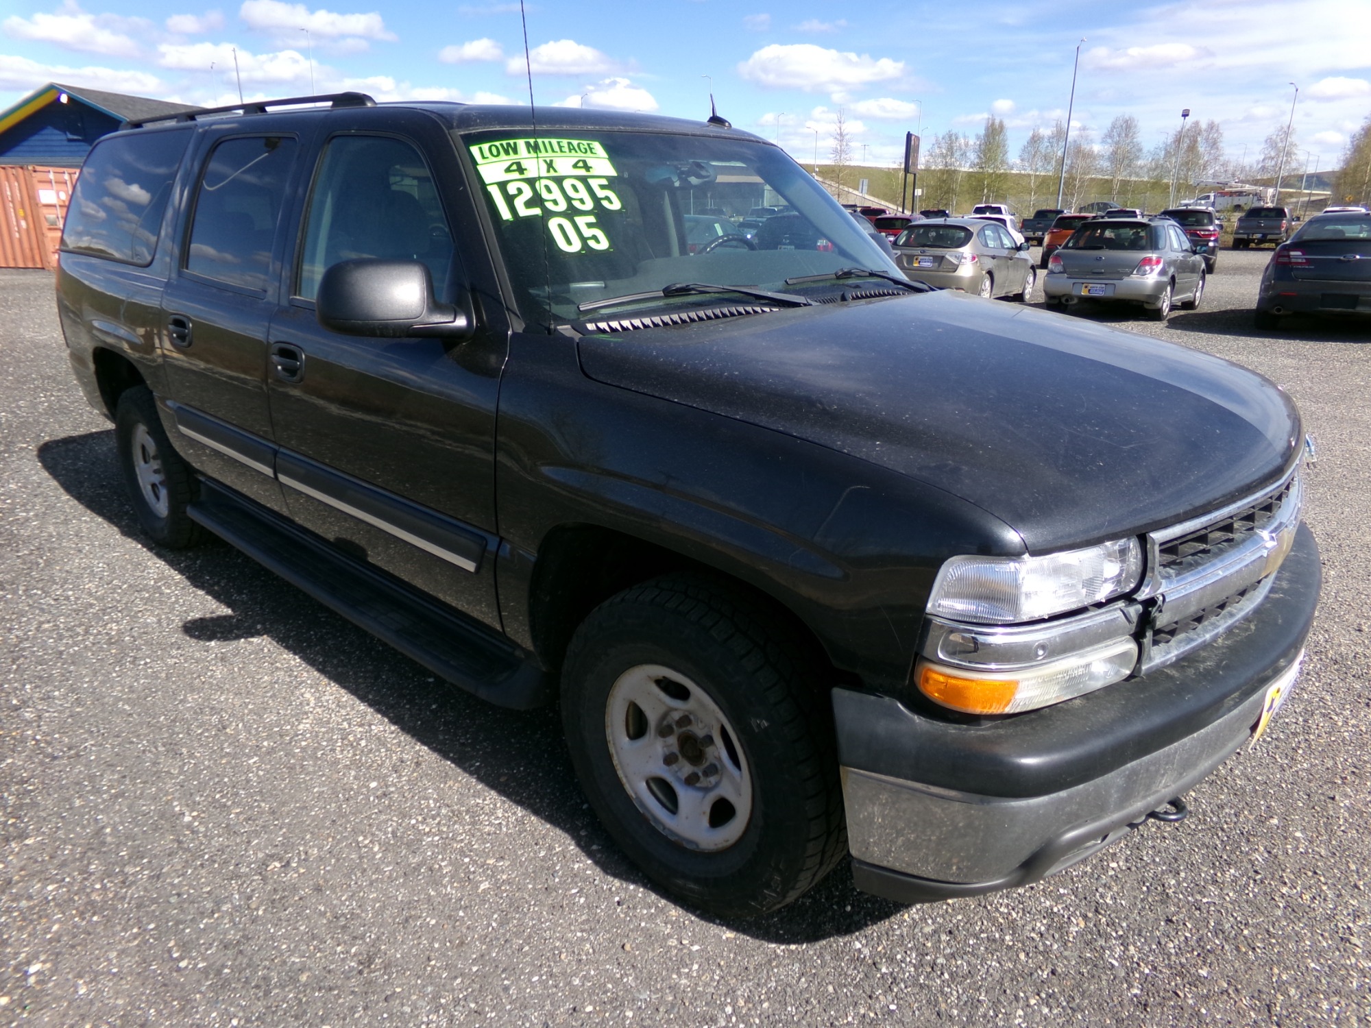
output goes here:
<path id="1" fill-rule="evenodd" d="M 171 448 L 148 387 L 137 385 L 119 395 L 114 439 L 123 482 L 143 530 L 171 550 L 199 543 L 204 532 L 185 513 L 195 499 L 195 474 Z"/>

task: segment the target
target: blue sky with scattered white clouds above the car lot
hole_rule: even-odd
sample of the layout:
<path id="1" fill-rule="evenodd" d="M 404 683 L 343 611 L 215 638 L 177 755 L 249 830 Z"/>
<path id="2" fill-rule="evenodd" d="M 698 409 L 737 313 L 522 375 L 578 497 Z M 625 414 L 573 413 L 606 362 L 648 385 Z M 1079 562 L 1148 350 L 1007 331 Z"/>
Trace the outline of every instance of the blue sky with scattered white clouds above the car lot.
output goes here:
<path id="1" fill-rule="evenodd" d="M 720 114 L 805 162 L 814 129 L 825 158 L 839 110 L 858 162 L 897 162 L 906 130 L 975 133 L 988 112 L 1017 152 L 1034 125 L 1065 117 L 1082 36 L 1072 122 L 1097 136 L 1132 114 L 1152 145 L 1189 107 L 1222 123 L 1233 158 L 1250 158 L 1289 117 L 1293 81 L 1297 141 L 1327 169 L 1371 112 L 1371 0 L 533 0 L 526 11 L 539 104 L 705 118 L 712 81 Z M 233 103 L 232 48 L 248 99 L 308 93 L 313 74 L 317 92 L 378 100 L 528 101 L 517 0 L 3 0 L 0 104 L 49 79 Z"/>

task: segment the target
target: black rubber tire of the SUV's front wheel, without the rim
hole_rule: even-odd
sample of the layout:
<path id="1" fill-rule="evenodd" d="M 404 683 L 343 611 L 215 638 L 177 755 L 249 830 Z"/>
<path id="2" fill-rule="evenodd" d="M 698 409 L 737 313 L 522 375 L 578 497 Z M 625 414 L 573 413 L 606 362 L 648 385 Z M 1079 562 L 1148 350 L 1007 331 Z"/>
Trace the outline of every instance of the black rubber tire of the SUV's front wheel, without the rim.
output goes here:
<path id="1" fill-rule="evenodd" d="M 728 848 L 687 848 L 639 809 L 610 748 L 620 676 L 661 665 L 703 687 L 736 732 L 751 813 Z M 823 879 L 847 851 L 821 654 L 779 613 L 728 583 L 670 574 L 596 607 L 562 669 L 562 726 L 600 822 L 658 885 L 720 917 L 764 914 Z"/>

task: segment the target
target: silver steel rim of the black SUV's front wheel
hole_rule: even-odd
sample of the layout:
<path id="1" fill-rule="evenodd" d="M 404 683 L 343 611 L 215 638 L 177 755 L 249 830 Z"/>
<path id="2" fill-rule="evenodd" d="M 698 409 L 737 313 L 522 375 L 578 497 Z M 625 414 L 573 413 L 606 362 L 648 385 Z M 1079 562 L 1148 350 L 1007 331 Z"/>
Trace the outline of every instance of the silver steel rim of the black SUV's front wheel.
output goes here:
<path id="1" fill-rule="evenodd" d="M 677 846 L 718 853 L 747 831 L 753 783 L 738 732 L 687 676 L 657 663 L 620 674 L 605 737 L 624 791 Z"/>

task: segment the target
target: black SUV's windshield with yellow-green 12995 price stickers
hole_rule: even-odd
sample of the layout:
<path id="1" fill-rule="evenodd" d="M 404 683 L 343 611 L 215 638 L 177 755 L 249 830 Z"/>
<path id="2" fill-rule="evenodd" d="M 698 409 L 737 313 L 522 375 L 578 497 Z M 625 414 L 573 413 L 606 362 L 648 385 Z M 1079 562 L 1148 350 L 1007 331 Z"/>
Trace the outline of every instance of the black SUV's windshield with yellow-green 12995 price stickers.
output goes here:
<path id="1" fill-rule="evenodd" d="M 518 130 L 481 132 L 461 140 L 485 186 L 529 322 L 580 321 L 596 300 L 677 284 L 794 292 L 787 278 L 850 267 L 899 274 L 851 215 L 776 147 L 581 130 L 536 140 Z M 731 221 L 747 214 L 762 218 L 750 236 Z M 638 299 L 625 310 L 724 302 L 727 293 L 681 293 Z"/>

